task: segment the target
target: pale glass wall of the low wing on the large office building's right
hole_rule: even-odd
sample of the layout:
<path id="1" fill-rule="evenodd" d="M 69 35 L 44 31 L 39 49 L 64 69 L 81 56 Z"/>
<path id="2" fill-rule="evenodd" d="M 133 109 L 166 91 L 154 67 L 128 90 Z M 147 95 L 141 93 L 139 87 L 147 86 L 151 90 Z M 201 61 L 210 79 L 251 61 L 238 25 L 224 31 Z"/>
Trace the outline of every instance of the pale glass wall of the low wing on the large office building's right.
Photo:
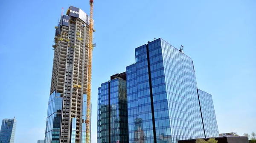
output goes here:
<path id="1" fill-rule="evenodd" d="M 206 137 L 218 137 L 218 125 L 215 116 L 212 95 L 198 89 L 198 97 L 201 106 L 204 131 Z"/>

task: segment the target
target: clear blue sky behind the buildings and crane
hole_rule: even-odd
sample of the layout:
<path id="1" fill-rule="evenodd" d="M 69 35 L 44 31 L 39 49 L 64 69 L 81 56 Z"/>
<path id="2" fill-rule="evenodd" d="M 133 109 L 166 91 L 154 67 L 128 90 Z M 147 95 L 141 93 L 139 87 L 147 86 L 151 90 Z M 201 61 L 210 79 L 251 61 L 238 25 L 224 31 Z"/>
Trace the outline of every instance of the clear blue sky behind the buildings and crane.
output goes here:
<path id="1" fill-rule="evenodd" d="M 89 0 L 88 0 L 89 1 Z M 0 119 L 16 117 L 15 143 L 44 139 L 57 20 L 87 0 L 1 0 Z M 134 49 L 161 37 L 184 46 L 198 87 L 212 94 L 219 132 L 256 132 L 255 0 L 95 0 L 92 143 L 97 87 L 135 62 Z"/>

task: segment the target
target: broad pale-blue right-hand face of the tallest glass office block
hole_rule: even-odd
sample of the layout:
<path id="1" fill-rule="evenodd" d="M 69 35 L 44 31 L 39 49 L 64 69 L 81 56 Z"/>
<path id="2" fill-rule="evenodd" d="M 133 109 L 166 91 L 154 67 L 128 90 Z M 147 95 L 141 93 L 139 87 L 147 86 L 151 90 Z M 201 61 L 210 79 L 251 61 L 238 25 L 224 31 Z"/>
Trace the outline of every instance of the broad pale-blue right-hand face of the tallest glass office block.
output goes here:
<path id="1" fill-rule="evenodd" d="M 166 41 L 160 42 L 172 141 L 204 137 L 193 61 Z"/>

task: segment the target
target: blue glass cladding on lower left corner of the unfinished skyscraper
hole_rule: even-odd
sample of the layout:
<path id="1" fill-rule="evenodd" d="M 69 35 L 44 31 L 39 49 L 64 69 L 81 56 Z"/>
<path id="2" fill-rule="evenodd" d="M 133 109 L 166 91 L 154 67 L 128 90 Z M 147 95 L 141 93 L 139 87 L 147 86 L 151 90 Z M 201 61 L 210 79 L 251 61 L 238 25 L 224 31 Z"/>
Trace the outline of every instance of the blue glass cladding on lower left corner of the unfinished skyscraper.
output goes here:
<path id="1" fill-rule="evenodd" d="M 49 97 L 44 143 L 59 143 L 62 100 L 61 94 L 55 91 Z"/>

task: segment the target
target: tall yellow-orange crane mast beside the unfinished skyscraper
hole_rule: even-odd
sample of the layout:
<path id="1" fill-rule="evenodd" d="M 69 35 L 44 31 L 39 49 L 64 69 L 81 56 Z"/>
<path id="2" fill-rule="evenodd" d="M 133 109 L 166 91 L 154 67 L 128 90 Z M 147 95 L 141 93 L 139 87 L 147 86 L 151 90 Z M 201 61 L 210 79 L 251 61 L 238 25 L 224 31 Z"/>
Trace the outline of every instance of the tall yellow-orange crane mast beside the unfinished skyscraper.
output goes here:
<path id="1" fill-rule="evenodd" d="M 90 143 L 90 99 L 92 79 L 92 56 L 93 56 L 93 0 L 90 0 L 90 23 L 89 23 L 89 49 L 88 49 L 88 77 L 87 77 L 87 111 L 86 111 L 86 143 Z"/>

